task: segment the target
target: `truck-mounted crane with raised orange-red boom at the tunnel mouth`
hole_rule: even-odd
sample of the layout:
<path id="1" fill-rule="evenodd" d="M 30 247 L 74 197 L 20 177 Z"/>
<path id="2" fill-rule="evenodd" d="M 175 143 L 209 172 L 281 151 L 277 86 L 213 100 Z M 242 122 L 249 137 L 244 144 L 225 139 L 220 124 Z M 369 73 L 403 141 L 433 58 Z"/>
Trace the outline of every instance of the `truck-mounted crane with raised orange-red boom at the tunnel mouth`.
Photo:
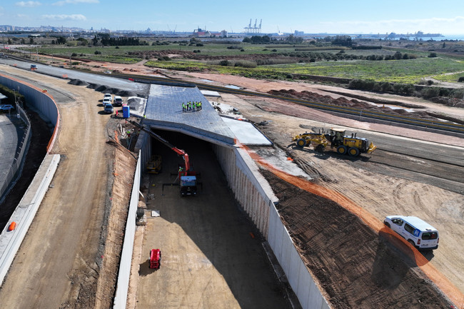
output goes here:
<path id="1" fill-rule="evenodd" d="M 130 120 L 128 122 L 140 128 L 142 131 L 150 134 L 150 136 L 153 138 L 156 138 L 156 140 L 161 141 L 161 143 L 171 148 L 172 151 L 176 152 L 178 155 L 182 156 L 183 158 L 183 162 L 184 162 L 183 166 L 178 166 L 177 173 L 171 173 L 171 176 L 172 175 L 177 176 L 176 181 L 178 180 L 178 183 L 176 182 L 163 183 L 162 191 L 164 192 L 165 186 L 180 186 L 181 196 L 196 196 L 196 193 L 197 193 L 196 176 L 199 176 L 200 173 L 196 173 L 196 171 L 193 171 L 193 166 L 191 166 L 190 160 L 188 158 L 188 154 L 182 149 L 176 148 L 175 146 L 171 145 L 171 143 L 166 141 L 164 138 L 162 138 L 161 136 L 158 136 L 158 134 L 151 131 L 150 128 L 143 126 L 142 124 L 137 123 L 136 121 Z M 201 186 L 201 183 L 198 183 L 198 185 Z"/>

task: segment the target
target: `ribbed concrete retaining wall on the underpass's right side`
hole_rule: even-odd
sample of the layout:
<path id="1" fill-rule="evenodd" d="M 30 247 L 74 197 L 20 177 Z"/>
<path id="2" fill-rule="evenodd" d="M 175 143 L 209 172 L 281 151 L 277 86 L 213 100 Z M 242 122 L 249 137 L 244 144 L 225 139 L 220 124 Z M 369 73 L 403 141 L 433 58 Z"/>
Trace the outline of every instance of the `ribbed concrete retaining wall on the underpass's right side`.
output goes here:
<path id="1" fill-rule="evenodd" d="M 329 309 L 274 206 L 278 202 L 256 163 L 242 148 L 213 146 L 237 201 L 268 240 L 304 309 Z"/>

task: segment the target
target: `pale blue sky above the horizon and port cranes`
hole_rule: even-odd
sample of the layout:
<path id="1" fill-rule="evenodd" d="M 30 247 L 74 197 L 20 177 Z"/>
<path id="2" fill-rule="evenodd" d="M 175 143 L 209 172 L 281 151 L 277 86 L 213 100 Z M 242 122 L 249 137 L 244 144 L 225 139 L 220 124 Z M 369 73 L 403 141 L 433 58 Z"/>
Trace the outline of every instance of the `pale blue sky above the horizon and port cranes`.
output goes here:
<path id="1" fill-rule="evenodd" d="M 157 1 L 37 0 L 0 3 L 0 25 L 99 30 L 242 32 L 258 19 L 263 33 L 464 34 L 463 0 Z"/>

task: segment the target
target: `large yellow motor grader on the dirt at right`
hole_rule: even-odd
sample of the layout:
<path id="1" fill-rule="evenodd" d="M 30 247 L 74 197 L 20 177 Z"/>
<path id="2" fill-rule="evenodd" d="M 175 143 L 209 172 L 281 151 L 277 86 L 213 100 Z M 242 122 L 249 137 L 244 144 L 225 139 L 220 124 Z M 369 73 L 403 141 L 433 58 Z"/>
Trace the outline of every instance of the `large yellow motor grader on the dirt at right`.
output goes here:
<path id="1" fill-rule="evenodd" d="M 359 156 L 360 153 L 373 153 L 377 146 L 372 142 L 369 143 L 367 138 L 357 137 L 356 133 L 347 136 L 346 130 L 331 128 L 330 133 L 308 133 L 297 135 L 293 138 L 296 146 L 304 147 L 312 145 L 316 151 L 322 151 L 328 143 L 331 148 L 336 148 L 337 153 L 348 154 L 349 156 Z"/>

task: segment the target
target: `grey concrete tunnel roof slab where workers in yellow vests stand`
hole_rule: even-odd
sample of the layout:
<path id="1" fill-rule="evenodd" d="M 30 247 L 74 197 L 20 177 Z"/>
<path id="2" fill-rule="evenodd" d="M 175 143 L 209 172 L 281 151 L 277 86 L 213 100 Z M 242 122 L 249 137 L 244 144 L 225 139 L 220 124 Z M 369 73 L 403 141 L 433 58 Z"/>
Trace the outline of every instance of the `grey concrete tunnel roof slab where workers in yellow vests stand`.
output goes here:
<path id="1" fill-rule="evenodd" d="M 182 103 L 201 101 L 201 111 L 182 111 Z M 151 85 L 146 102 L 148 126 L 185 133 L 221 146 L 233 147 L 235 134 L 196 87 Z"/>

